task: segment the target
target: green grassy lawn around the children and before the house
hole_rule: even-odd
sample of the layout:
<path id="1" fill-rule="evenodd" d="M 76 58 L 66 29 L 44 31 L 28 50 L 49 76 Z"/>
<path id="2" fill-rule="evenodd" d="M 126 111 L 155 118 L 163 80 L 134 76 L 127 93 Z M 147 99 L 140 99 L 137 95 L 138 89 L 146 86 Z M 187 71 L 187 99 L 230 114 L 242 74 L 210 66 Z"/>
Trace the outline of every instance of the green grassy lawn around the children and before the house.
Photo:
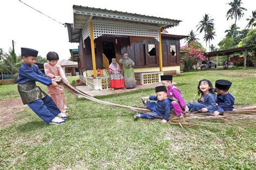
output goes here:
<path id="1" fill-rule="evenodd" d="M 256 70 L 211 70 L 174 77 L 186 101 L 200 79 L 215 84 L 232 81 L 235 106 L 256 104 Z M 74 77 L 72 77 L 74 79 Z M 71 83 L 71 80 L 70 80 Z M 42 86 L 46 90 L 45 86 Z M 18 97 L 17 85 L 0 86 L 0 100 Z M 78 99 L 68 92 L 70 118 L 60 126 L 46 125 L 29 108 L 0 130 L 2 168 L 235 168 L 256 167 L 256 120 L 246 126 L 208 121 L 204 126 L 133 121 L 134 112 Z M 101 96 L 98 99 L 135 106 L 154 89 Z M 246 122 L 243 122 L 246 123 Z"/>

